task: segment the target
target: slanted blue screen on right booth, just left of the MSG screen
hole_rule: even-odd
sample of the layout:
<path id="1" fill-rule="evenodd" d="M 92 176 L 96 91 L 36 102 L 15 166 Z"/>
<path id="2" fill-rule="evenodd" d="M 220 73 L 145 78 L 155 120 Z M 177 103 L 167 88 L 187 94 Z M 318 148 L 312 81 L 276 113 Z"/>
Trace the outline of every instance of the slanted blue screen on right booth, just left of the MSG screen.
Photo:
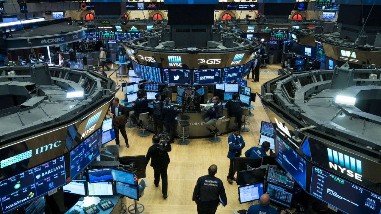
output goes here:
<path id="1" fill-rule="evenodd" d="M 279 136 L 276 135 L 277 161 L 291 174 L 296 182 L 306 189 L 306 160 L 296 153 Z"/>

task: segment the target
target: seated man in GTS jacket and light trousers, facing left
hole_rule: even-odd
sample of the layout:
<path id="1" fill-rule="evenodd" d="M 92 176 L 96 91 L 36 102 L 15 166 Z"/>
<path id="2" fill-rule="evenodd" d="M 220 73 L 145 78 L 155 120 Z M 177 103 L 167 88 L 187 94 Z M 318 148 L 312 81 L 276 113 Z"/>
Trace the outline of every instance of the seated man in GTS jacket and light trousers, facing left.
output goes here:
<path id="1" fill-rule="evenodd" d="M 212 103 L 214 103 L 213 107 L 204 107 L 204 109 L 207 109 L 207 113 L 209 114 L 209 117 L 205 118 L 205 125 L 207 125 L 207 129 L 210 131 L 210 134 L 217 134 L 218 129 L 217 127 L 213 126 L 216 124 L 217 120 L 224 116 L 223 113 L 223 107 L 222 102 L 219 101 L 218 96 L 214 96 L 212 99 Z"/>

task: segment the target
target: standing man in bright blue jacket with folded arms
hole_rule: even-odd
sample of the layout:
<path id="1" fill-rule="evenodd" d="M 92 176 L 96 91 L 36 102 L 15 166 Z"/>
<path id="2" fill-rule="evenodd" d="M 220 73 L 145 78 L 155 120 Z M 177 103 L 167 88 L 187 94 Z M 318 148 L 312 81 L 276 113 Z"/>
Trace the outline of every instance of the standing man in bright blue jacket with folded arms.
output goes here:
<path id="1" fill-rule="evenodd" d="M 233 127 L 233 134 L 227 139 L 229 143 L 229 152 L 227 152 L 227 158 L 230 159 L 229 174 L 227 175 L 227 182 L 233 184 L 235 181 L 235 171 L 233 171 L 233 160 L 242 155 L 242 149 L 245 147 L 245 141 L 242 135 L 240 135 L 240 129 L 238 127 Z"/>

